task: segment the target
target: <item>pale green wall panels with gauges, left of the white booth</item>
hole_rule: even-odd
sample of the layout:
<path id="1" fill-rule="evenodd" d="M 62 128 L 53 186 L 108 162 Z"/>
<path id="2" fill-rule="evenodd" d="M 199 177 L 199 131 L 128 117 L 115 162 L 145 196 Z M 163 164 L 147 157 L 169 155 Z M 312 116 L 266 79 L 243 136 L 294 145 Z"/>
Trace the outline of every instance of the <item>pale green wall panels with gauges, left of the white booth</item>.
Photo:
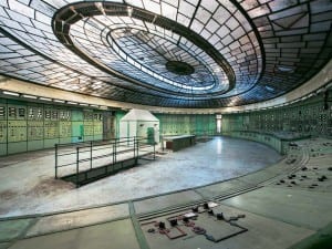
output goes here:
<path id="1" fill-rule="evenodd" d="M 1 98 L 0 156 L 49 148 L 59 142 L 72 142 L 73 123 L 75 118 L 83 117 L 83 108 Z M 84 129 L 86 135 L 89 133 L 86 137 L 89 141 L 101 139 L 102 112 L 91 110 L 89 113 L 90 117 L 83 124 L 83 129 L 84 125 L 87 127 Z"/>

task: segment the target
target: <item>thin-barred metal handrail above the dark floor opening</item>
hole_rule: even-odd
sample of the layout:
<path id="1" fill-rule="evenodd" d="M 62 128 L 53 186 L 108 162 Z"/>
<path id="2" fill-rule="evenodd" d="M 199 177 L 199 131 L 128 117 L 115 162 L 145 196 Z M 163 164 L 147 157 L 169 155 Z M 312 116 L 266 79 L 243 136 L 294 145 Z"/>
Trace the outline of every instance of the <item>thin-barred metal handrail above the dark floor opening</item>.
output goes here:
<path id="1" fill-rule="evenodd" d="M 115 165 L 125 157 L 120 157 L 122 154 L 127 154 L 126 159 L 134 158 L 136 163 L 143 155 L 151 153 L 155 159 L 155 142 L 148 143 L 146 137 L 120 137 L 102 142 L 80 142 L 75 145 L 55 144 L 55 179 L 74 174 L 79 183 L 81 173 Z M 61 153 L 63 149 L 70 151 Z"/>

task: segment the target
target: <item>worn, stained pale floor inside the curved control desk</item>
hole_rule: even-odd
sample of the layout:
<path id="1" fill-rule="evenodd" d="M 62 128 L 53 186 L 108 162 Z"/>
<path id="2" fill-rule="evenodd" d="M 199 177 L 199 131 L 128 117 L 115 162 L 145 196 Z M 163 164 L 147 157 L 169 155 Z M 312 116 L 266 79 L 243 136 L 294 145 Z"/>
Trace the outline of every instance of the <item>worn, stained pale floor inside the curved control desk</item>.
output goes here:
<path id="1" fill-rule="evenodd" d="M 0 217 L 72 210 L 194 188 L 258 170 L 281 158 L 258 143 L 217 137 L 76 189 L 54 179 L 53 155 L 18 157 L 20 162 L 0 168 Z M 1 162 L 8 165 L 6 157 Z"/>

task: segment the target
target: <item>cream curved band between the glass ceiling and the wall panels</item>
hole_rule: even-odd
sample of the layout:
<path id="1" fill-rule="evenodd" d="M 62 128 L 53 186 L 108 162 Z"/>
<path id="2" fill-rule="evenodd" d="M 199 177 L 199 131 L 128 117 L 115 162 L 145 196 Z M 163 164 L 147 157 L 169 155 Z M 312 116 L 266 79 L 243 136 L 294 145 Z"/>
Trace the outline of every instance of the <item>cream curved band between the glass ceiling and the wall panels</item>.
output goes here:
<path id="1" fill-rule="evenodd" d="M 263 108 L 270 108 L 276 106 L 283 106 L 290 103 L 307 98 L 311 94 L 315 94 L 319 91 L 325 91 L 325 89 L 331 89 L 332 82 L 332 59 L 330 62 L 311 80 L 294 89 L 293 91 L 281 95 L 279 97 L 243 106 L 235 107 L 222 107 L 222 108 L 173 108 L 173 107 L 160 107 L 160 106 L 148 106 L 132 104 L 118 101 L 112 101 L 106 98 L 101 98 L 98 96 L 84 95 L 79 93 L 73 93 L 69 91 L 63 91 L 53 87 L 46 87 L 38 84 L 32 84 L 19 80 L 14 80 L 8 76 L 0 75 L 0 90 L 12 91 L 19 94 L 29 94 L 37 97 L 49 97 L 59 98 L 64 102 L 77 102 L 95 106 L 101 106 L 103 108 L 144 108 L 155 113 L 187 113 L 187 114 L 211 114 L 211 113 L 235 113 L 235 112 L 246 112 L 246 111 L 258 111 Z"/>

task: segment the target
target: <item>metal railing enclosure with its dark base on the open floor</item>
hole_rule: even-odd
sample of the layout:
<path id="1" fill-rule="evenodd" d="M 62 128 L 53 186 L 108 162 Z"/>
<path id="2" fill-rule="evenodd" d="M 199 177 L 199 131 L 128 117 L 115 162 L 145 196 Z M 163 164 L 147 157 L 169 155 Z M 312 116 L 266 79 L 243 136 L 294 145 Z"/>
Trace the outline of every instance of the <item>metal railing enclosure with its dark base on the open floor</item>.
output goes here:
<path id="1" fill-rule="evenodd" d="M 138 158 L 155 159 L 155 143 L 144 137 L 55 144 L 55 178 L 79 187 L 133 167 Z"/>

